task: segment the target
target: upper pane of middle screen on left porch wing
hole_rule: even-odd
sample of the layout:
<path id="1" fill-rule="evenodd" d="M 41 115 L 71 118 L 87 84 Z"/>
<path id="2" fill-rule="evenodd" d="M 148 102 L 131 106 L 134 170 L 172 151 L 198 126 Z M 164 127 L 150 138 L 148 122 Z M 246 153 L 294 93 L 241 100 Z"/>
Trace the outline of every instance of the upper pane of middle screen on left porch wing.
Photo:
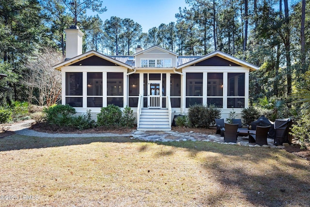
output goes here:
<path id="1" fill-rule="evenodd" d="M 102 96 L 102 73 L 87 73 L 87 96 Z"/>

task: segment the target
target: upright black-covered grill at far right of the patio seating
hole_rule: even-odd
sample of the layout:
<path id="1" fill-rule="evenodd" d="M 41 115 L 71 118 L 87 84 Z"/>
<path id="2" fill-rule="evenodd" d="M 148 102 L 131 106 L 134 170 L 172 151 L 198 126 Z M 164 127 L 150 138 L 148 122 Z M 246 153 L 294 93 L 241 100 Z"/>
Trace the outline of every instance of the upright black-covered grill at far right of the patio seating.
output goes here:
<path id="1" fill-rule="evenodd" d="M 292 143 L 292 136 L 289 134 L 292 126 L 291 119 L 276 119 L 275 121 L 275 144 Z"/>

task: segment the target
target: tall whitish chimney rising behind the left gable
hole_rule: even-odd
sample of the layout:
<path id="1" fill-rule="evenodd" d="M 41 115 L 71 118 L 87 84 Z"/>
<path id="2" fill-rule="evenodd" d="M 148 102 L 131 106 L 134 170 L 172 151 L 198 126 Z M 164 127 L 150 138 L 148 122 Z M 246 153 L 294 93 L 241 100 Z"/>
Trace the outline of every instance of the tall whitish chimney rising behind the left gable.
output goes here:
<path id="1" fill-rule="evenodd" d="M 66 59 L 81 55 L 84 33 L 81 32 L 76 25 L 72 25 L 64 31 L 66 32 Z"/>

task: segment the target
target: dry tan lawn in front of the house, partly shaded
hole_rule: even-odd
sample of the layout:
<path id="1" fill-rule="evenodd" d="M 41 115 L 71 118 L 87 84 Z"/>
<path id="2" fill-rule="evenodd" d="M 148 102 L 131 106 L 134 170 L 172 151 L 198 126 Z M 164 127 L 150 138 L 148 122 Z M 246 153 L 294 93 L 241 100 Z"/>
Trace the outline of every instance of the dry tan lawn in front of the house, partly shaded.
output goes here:
<path id="1" fill-rule="evenodd" d="M 0 195 L 17 198 L 0 206 L 310 204 L 309 162 L 278 149 L 14 135 L 0 139 L 0 161 Z"/>

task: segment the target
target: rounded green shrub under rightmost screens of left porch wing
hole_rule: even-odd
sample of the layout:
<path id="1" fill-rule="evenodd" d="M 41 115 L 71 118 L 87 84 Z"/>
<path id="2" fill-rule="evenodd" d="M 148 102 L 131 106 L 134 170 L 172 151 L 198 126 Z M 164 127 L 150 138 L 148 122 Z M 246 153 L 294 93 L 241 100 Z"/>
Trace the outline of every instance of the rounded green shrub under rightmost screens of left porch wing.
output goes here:
<path id="1" fill-rule="evenodd" d="M 97 125 L 105 127 L 119 127 L 122 121 L 122 111 L 118 106 L 109 104 L 103 107 L 97 116 Z"/>

